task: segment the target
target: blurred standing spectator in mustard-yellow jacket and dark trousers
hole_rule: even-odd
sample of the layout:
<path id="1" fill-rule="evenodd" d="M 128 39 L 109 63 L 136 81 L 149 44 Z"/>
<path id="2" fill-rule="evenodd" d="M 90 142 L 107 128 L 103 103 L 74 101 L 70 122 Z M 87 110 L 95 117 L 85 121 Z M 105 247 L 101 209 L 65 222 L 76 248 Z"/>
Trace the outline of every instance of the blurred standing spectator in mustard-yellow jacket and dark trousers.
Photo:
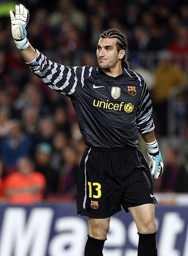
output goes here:
<path id="1" fill-rule="evenodd" d="M 163 50 L 158 53 L 158 63 L 154 68 L 154 89 L 152 91 L 153 115 L 156 132 L 167 135 L 167 104 L 170 91 L 186 82 L 182 69 L 173 63 L 172 54 Z"/>

